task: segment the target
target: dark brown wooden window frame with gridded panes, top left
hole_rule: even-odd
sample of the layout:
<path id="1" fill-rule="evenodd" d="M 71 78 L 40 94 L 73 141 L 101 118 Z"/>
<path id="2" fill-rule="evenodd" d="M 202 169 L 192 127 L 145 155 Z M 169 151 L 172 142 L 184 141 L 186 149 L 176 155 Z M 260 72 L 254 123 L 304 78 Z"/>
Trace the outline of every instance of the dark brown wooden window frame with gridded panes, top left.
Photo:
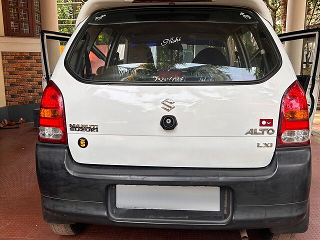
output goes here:
<path id="1" fill-rule="evenodd" d="M 41 27 L 41 23 L 35 22 L 35 13 L 37 12 L 40 14 L 40 21 L 41 21 L 41 12 L 38 10 L 35 10 L 34 0 L 27 0 L 28 7 L 21 7 L 18 5 L 19 0 L 16 0 L 16 1 L 17 1 L 17 6 L 12 7 L 12 6 L 9 6 L 9 0 L 1 0 L 5 36 L 40 37 L 40 35 L 36 34 L 36 25 L 39 25 Z M 18 19 L 10 18 L 10 13 L 9 13 L 10 8 L 18 9 Z M 28 20 L 20 19 L 20 9 L 28 10 Z M 19 23 L 19 32 L 11 31 L 11 21 L 16 21 Z M 29 23 L 29 33 L 21 32 L 22 22 Z"/>

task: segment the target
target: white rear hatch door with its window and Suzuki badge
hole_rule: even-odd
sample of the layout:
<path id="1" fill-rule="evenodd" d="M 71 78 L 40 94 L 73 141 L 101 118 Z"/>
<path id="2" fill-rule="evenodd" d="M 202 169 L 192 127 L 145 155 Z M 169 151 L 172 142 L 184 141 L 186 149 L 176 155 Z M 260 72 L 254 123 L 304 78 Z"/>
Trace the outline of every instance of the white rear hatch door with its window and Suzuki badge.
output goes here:
<path id="1" fill-rule="evenodd" d="M 67 69 L 52 76 L 76 162 L 270 163 L 281 98 L 294 76 L 277 71 L 276 45 L 255 13 L 152 8 L 98 12 L 88 22 L 71 44 Z M 176 118 L 174 129 L 160 125 L 165 115 Z"/>

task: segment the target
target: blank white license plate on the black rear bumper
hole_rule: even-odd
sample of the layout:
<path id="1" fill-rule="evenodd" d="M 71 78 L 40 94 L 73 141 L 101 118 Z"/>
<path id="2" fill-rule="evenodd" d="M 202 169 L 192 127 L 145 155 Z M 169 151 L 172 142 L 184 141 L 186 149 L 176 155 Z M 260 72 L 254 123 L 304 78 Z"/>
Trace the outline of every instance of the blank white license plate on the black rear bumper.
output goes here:
<path id="1" fill-rule="evenodd" d="M 116 185 L 117 208 L 219 211 L 217 186 Z"/>

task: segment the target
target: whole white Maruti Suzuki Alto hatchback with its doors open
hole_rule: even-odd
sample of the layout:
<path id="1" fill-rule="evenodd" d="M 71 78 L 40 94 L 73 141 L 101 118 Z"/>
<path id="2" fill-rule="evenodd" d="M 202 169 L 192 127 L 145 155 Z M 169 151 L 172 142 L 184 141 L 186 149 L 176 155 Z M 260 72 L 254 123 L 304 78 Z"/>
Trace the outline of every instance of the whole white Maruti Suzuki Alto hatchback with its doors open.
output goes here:
<path id="1" fill-rule="evenodd" d="M 279 39 L 262 0 L 88 0 L 72 36 L 41 35 L 36 169 L 53 231 L 307 229 L 319 30 Z M 52 76 L 47 39 L 67 41 Z"/>

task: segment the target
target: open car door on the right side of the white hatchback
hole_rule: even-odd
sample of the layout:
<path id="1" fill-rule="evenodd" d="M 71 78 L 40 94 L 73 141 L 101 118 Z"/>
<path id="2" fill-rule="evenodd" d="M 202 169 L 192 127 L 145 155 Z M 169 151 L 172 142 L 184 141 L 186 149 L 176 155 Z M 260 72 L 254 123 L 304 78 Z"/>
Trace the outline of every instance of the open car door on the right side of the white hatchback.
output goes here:
<path id="1" fill-rule="evenodd" d="M 320 28 L 292 31 L 279 35 L 302 85 L 309 107 L 310 130 L 320 87 Z"/>

